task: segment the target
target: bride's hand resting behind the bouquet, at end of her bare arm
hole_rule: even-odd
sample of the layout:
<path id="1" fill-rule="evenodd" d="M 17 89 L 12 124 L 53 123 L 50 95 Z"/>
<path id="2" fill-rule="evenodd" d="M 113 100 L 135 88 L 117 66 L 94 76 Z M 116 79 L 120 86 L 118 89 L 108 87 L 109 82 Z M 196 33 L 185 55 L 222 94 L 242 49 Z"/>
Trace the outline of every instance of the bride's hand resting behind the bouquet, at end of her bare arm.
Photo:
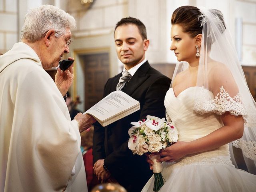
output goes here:
<path id="1" fill-rule="evenodd" d="M 160 150 L 159 155 L 161 156 L 161 158 L 158 159 L 157 161 L 173 162 L 175 160 L 182 158 L 187 154 L 186 146 L 187 142 L 177 141 L 175 144 L 172 144 L 171 146 Z"/>

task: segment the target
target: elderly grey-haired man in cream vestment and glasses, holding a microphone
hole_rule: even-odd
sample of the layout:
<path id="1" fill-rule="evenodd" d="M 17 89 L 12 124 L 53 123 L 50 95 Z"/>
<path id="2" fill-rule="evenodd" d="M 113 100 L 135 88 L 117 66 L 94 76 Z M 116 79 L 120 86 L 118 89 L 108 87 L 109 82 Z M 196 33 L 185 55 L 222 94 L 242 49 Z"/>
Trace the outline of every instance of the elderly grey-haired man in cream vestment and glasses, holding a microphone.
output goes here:
<path id="1" fill-rule="evenodd" d="M 45 72 L 69 52 L 74 27 L 68 13 L 40 6 L 26 15 L 21 42 L 0 56 L 0 191 L 87 192 L 80 132 L 95 120 L 70 120 L 63 96 L 72 66 L 58 68 L 55 83 Z"/>

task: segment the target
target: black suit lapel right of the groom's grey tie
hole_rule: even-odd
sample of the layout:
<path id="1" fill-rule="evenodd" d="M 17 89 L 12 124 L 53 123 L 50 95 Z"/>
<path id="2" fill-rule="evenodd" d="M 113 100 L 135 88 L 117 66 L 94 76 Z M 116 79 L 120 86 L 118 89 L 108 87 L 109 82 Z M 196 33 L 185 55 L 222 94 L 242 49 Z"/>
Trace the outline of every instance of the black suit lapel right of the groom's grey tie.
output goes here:
<path id="1" fill-rule="evenodd" d="M 148 61 L 146 61 L 132 76 L 131 80 L 127 83 L 124 88 L 124 92 L 128 95 L 131 95 L 147 78 L 147 72 L 150 68 Z"/>

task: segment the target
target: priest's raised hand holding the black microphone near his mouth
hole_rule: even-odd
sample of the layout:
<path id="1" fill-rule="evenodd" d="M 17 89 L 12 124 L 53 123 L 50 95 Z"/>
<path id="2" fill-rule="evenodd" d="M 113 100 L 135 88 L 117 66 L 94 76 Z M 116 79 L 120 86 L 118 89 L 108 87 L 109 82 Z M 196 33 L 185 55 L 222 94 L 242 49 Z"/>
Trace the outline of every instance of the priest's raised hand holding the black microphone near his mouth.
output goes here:
<path id="1" fill-rule="evenodd" d="M 74 58 L 69 57 L 69 60 L 74 60 Z M 57 73 L 55 75 L 55 83 L 60 90 L 62 96 L 68 92 L 73 79 L 74 79 L 74 64 L 72 64 L 66 71 L 62 71 L 60 68 L 57 69 Z"/>

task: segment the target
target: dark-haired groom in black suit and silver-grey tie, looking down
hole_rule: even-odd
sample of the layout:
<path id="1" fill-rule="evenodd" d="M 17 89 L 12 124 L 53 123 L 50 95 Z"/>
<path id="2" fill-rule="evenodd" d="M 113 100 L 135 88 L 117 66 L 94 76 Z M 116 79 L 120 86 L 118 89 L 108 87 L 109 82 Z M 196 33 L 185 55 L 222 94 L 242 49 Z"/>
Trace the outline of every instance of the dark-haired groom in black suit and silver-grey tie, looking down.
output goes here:
<path id="1" fill-rule="evenodd" d="M 145 58 L 149 46 L 146 27 L 136 18 L 123 18 L 114 31 L 116 53 L 124 64 L 123 72 L 110 78 L 104 97 L 122 90 L 140 102 L 140 110 L 105 128 L 94 125 L 94 173 L 99 180 L 117 181 L 128 192 L 140 192 L 152 176 L 146 156 L 133 155 L 128 149 L 130 122 L 147 115 L 165 117 L 164 97 L 171 80 L 152 68 Z"/>

